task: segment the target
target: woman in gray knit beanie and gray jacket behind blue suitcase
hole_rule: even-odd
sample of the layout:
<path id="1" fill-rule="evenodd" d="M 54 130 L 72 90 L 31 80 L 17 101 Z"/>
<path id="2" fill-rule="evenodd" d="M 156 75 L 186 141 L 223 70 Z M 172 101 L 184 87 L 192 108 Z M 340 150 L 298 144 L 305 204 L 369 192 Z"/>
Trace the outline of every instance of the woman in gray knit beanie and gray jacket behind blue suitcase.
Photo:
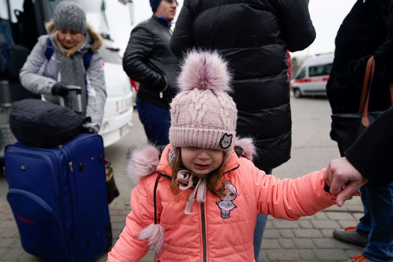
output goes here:
<path id="1" fill-rule="evenodd" d="M 46 29 L 49 35 L 39 37 L 20 71 L 20 81 L 45 101 L 59 104 L 59 96 L 64 97 L 71 109 L 77 99 L 66 86 L 80 86 L 82 114 L 91 118 L 87 130 L 98 133 L 107 96 L 102 59 L 97 53 L 103 42 L 86 23 L 83 9 L 71 1 L 62 1 L 55 7 L 53 20 Z"/>

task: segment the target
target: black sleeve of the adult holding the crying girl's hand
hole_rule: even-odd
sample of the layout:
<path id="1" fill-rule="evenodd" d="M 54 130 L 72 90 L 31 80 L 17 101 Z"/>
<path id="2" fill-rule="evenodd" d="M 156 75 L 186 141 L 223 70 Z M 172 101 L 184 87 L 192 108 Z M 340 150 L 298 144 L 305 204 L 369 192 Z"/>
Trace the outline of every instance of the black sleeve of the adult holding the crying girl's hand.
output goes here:
<path id="1" fill-rule="evenodd" d="M 348 161 L 370 182 L 393 182 L 393 107 L 380 115 L 345 151 Z"/>

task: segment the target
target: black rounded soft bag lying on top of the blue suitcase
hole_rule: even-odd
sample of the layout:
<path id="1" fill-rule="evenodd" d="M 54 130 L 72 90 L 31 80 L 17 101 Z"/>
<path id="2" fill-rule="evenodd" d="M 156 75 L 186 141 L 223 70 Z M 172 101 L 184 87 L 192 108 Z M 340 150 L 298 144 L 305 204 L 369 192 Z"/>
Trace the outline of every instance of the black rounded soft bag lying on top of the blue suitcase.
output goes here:
<path id="1" fill-rule="evenodd" d="M 86 117 L 39 99 L 13 103 L 9 124 L 14 136 L 34 147 L 56 147 L 81 133 Z"/>

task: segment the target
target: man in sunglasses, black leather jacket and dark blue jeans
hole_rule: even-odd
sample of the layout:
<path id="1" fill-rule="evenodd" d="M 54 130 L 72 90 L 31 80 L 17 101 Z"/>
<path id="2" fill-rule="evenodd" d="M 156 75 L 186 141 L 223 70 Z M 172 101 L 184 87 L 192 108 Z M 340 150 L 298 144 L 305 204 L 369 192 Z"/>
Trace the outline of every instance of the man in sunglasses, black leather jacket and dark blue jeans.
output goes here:
<path id="1" fill-rule="evenodd" d="M 169 49 L 171 21 L 176 0 L 151 0 L 153 16 L 131 32 L 124 53 L 123 69 L 140 83 L 136 106 L 147 138 L 156 145 L 169 143 L 169 103 L 175 95 L 178 59 Z"/>

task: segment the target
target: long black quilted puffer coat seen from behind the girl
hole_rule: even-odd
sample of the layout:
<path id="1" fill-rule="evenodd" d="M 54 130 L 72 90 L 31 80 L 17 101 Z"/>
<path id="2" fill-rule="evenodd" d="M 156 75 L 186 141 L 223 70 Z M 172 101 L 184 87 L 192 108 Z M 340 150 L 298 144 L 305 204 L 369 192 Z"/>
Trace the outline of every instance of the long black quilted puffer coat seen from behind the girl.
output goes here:
<path id="1" fill-rule="evenodd" d="M 306 0 L 185 0 L 171 39 L 178 57 L 187 48 L 217 49 L 233 70 L 237 135 L 255 138 L 255 165 L 270 170 L 288 161 L 291 113 L 286 49 L 315 38 Z"/>

